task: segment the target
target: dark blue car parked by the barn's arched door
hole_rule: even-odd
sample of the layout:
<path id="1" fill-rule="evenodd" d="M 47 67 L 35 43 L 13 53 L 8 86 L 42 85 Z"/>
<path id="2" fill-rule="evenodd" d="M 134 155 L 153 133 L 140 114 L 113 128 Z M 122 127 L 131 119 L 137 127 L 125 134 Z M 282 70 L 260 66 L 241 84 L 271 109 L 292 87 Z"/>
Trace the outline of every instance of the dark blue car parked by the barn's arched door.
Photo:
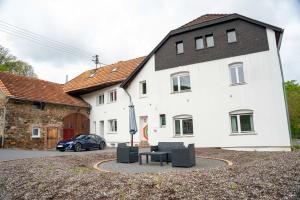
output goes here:
<path id="1" fill-rule="evenodd" d="M 104 149 L 106 147 L 105 139 L 95 134 L 80 134 L 70 140 L 61 140 L 56 145 L 56 150 L 81 151 L 82 149 Z"/>

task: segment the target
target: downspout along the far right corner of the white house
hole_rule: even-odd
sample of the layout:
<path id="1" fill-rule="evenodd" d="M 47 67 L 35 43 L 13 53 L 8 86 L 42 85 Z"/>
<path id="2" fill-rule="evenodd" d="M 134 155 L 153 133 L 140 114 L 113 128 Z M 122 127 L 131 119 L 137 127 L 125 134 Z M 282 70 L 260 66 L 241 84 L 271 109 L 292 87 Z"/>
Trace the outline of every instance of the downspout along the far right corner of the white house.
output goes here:
<path id="1" fill-rule="evenodd" d="M 279 38 L 279 42 L 278 42 L 277 55 L 278 55 L 279 66 L 280 66 L 280 73 L 281 73 L 281 78 L 282 78 L 282 89 L 283 89 L 285 111 L 286 111 L 286 117 L 287 117 L 287 123 L 288 123 L 289 135 L 290 135 L 290 146 L 292 146 L 292 132 L 291 132 L 290 114 L 289 114 L 289 107 L 288 107 L 288 102 L 287 102 L 287 95 L 286 95 L 286 90 L 285 90 L 285 85 L 284 85 L 285 82 L 284 82 L 284 76 L 283 76 L 283 69 L 282 69 L 281 57 L 280 57 L 280 54 L 279 54 L 279 48 L 281 46 L 281 40 L 282 40 L 282 33 L 280 34 L 280 38 Z"/>

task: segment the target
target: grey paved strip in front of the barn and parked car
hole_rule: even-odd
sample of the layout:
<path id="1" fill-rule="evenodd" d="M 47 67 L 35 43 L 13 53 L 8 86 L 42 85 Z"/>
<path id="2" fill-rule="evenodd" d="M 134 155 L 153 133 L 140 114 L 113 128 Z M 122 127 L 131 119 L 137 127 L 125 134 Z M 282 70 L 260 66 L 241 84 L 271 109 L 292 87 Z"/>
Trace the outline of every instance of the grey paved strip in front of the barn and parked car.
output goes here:
<path id="1" fill-rule="evenodd" d="M 40 150 L 22 150 L 22 149 L 0 149 L 0 161 L 15 160 L 22 158 L 36 158 L 47 156 L 62 156 L 62 155 L 88 155 L 92 153 L 111 153 L 115 152 L 115 148 L 106 148 L 105 150 L 91 150 L 82 152 L 65 151 L 60 152 L 56 150 L 40 151 Z"/>

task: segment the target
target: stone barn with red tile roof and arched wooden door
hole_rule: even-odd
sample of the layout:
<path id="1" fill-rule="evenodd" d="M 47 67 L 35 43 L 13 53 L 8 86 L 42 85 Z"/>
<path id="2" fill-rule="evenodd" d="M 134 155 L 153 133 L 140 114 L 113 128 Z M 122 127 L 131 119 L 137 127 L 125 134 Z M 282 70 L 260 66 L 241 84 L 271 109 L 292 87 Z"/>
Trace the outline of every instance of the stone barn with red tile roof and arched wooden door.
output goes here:
<path id="1" fill-rule="evenodd" d="M 90 106 L 62 84 L 0 73 L 0 135 L 5 148 L 52 149 L 89 133 Z"/>

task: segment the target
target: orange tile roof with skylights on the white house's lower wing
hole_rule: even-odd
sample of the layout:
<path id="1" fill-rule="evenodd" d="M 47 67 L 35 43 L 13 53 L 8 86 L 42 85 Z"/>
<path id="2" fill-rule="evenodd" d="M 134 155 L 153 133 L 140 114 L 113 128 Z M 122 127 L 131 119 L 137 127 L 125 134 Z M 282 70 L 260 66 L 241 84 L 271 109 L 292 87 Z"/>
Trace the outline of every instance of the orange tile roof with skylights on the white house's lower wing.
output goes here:
<path id="1" fill-rule="evenodd" d="M 65 92 L 79 91 L 100 85 L 120 83 L 125 80 L 145 57 L 134 58 L 127 61 L 106 65 L 98 69 L 83 72 L 64 85 Z"/>

